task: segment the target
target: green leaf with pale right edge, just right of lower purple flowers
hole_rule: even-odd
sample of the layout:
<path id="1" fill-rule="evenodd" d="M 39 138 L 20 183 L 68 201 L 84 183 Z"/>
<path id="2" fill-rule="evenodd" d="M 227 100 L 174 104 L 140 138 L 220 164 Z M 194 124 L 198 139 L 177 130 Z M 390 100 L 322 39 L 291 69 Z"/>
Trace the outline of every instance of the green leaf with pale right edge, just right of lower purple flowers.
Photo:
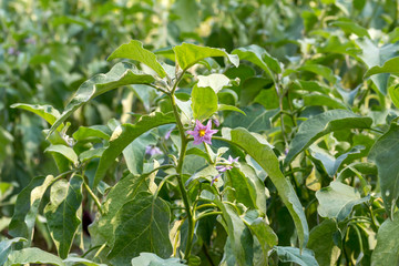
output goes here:
<path id="1" fill-rule="evenodd" d="M 247 164 L 241 163 L 241 167 L 231 170 L 228 176 L 235 190 L 235 200 L 248 208 L 258 208 L 266 214 L 265 185 L 255 171 Z"/>

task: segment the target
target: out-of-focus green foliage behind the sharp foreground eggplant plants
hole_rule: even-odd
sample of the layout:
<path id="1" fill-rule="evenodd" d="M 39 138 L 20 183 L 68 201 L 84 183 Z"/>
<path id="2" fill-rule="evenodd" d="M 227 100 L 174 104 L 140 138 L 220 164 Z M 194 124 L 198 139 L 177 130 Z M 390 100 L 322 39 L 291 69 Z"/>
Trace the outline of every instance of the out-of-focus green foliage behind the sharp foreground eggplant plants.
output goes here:
<path id="1" fill-rule="evenodd" d="M 348 27 L 351 22 L 360 28 Z M 0 231 L 7 229 L 18 192 L 34 176 L 57 173 L 50 154 L 43 153 L 48 143 L 42 130 L 48 127 L 47 123 L 10 105 L 51 104 L 61 112 L 83 81 L 110 69 L 106 58 L 120 44 L 141 40 L 160 54 L 183 41 L 219 47 L 227 52 L 258 44 L 293 69 L 311 61 L 334 70 L 320 73 L 305 68 L 301 72 L 293 71 L 291 80 L 295 75 L 310 80 L 316 73 L 336 85 L 335 79 L 339 76 L 338 89 L 350 92 L 362 84 L 366 70 L 358 60 L 360 51 L 352 41 L 354 31 L 358 35 L 370 34 L 380 44 L 395 43 L 399 40 L 397 25 L 397 1 L 392 0 L 2 0 Z M 364 28 L 371 30 L 361 33 Z M 248 74 L 252 68 L 243 64 L 225 74 L 262 73 L 256 70 Z M 242 80 L 242 84 L 245 82 L 250 81 Z M 72 127 L 106 124 L 111 119 L 126 121 L 130 117 L 123 115 L 129 112 L 151 111 L 155 96 L 133 88 L 109 92 L 75 112 Z M 241 99 L 241 108 L 254 102 L 260 102 L 266 110 L 278 106 L 270 100 L 263 101 L 265 96 L 259 93 L 250 101 Z M 372 109 L 381 108 L 376 104 Z M 323 110 L 314 108 L 308 112 Z M 306 112 L 303 114 L 306 116 Z M 225 122 L 229 125 L 228 119 Z M 229 126 L 233 125 L 232 122 Z M 284 219 L 287 212 L 276 215 Z M 308 223 L 311 227 L 313 223 Z M 279 228 L 284 229 L 293 226 Z M 289 242 L 283 237 L 280 245 Z"/>

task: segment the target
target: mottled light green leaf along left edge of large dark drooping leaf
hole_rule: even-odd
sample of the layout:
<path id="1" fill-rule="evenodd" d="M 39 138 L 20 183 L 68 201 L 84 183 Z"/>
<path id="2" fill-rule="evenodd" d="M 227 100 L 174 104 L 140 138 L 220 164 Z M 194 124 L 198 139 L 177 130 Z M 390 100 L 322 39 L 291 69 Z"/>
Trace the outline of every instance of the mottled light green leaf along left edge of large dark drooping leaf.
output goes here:
<path id="1" fill-rule="evenodd" d="M 116 185 L 111 188 L 106 195 L 105 202 L 102 204 L 104 214 L 95 219 L 95 222 L 89 227 L 94 245 L 102 245 L 105 242 L 112 245 L 114 237 L 114 223 L 112 222 L 112 218 L 116 215 L 121 207 L 126 202 L 132 201 L 137 193 L 149 191 L 147 180 L 150 180 L 147 174 L 130 174 L 120 180 Z"/>

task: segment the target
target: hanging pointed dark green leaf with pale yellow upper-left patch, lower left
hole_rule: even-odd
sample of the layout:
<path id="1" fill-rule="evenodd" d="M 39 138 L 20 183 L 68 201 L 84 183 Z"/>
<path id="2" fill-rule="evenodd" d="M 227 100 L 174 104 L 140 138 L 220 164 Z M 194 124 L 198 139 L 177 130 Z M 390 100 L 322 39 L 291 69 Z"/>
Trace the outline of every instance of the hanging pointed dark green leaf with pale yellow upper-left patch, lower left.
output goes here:
<path id="1" fill-rule="evenodd" d="M 44 207 L 50 235 L 60 257 L 66 258 L 81 219 L 78 211 L 82 204 L 81 176 L 73 176 L 68 183 L 60 180 L 51 186 L 50 203 Z"/>

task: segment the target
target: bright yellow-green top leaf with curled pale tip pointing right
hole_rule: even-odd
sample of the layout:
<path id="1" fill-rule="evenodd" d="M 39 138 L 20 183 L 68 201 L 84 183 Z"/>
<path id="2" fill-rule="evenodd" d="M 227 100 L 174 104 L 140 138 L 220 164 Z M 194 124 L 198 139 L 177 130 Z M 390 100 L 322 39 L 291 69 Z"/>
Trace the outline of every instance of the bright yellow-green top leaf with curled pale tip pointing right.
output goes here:
<path id="1" fill-rule="evenodd" d="M 228 54 L 224 49 L 183 43 L 174 47 L 173 51 L 175 52 L 176 61 L 182 70 L 187 70 L 203 59 L 216 57 L 226 57 L 235 66 L 238 66 L 239 64 L 238 57 Z"/>

